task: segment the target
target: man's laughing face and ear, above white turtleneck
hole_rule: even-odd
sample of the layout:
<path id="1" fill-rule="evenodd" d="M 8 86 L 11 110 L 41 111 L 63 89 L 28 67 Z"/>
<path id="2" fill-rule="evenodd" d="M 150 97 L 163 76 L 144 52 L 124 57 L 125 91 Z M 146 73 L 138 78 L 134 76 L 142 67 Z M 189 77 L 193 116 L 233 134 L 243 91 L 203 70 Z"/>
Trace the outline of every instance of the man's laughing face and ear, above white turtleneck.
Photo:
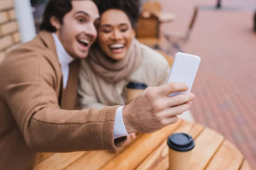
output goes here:
<path id="1" fill-rule="evenodd" d="M 99 22 L 99 11 L 92 0 L 72 0 L 72 10 L 61 24 L 55 17 L 51 24 L 65 50 L 72 57 L 85 58 L 97 37 L 95 23 Z"/>

